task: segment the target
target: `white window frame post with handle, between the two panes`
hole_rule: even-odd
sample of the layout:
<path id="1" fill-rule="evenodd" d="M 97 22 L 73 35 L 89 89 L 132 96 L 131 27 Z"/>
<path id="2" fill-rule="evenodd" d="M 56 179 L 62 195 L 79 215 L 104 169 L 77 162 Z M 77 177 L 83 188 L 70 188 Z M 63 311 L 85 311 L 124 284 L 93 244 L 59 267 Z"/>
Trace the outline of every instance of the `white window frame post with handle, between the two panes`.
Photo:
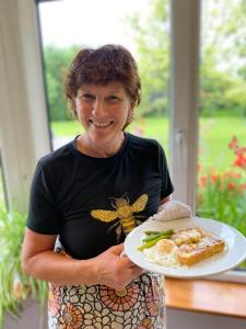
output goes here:
<path id="1" fill-rule="evenodd" d="M 200 1 L 171 1 L 171 136 L 175 198 L 196 209 Z"/>

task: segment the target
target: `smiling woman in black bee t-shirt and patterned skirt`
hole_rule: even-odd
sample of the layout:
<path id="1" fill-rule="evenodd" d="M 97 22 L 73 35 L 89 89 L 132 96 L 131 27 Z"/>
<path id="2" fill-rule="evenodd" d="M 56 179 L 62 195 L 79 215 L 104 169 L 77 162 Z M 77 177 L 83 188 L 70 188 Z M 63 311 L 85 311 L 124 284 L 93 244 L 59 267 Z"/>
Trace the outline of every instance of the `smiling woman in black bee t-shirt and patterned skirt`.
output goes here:
<path id="1" fill-rule="evenodd" d="M 173 192 L 161 146 L 125 133 L 140 89 L 121 46 L 71 64 L 66 94 L 84 133 L 39 160 L 22 254 L 50 283 L 50 329 L 163 328 L 162 276 L 121 257 L 126 235 Z"/>

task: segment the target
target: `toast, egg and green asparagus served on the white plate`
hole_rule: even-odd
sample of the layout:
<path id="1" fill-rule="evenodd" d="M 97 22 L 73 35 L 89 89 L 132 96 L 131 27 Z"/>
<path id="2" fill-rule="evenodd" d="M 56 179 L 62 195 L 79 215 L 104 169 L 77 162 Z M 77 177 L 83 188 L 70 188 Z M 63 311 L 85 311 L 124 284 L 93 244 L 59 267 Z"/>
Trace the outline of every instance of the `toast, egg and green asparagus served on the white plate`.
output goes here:
<path id="1" fill-rule="evenodd" d="M 148 261 L 165 266 L 190 266 L 225 249 L 224 240 L 200 228 L 147 231 L 138 248 Z"/>

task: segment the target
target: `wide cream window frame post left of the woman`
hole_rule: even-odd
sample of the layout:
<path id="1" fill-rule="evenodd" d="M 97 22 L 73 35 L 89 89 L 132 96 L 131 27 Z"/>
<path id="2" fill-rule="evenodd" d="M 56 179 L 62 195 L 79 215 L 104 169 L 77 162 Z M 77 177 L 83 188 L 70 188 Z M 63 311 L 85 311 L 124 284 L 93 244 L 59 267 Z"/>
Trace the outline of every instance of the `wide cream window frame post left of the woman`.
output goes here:
<path id="1" fill-rule="evenodd" d="M 10 209 L 26 212 L 38 158 L 50 150 L 34 0 L 0 1 L 0 146 Z"/>

